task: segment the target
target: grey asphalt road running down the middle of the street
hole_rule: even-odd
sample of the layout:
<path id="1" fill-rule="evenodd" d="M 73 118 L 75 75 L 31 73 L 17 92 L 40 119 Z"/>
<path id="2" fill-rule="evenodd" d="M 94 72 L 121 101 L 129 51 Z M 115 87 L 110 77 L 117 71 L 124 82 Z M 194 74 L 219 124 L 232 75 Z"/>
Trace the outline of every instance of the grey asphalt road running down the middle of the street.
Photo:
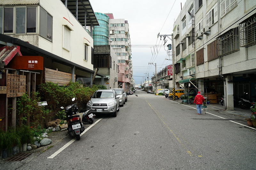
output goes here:
<path id="1" fill-rule="evenodd" d="M 255 169 L 256 130 L 243 126 L 241 115 L 218 109 L 196 115 L 195 105 L 142 91 L 135 94 L 128 96 L 117 117 L 99 115 L 99 122 L 80 141 L 52 159 L 70 137 L 44 153 L 2 163 L 0 168 Z"/>

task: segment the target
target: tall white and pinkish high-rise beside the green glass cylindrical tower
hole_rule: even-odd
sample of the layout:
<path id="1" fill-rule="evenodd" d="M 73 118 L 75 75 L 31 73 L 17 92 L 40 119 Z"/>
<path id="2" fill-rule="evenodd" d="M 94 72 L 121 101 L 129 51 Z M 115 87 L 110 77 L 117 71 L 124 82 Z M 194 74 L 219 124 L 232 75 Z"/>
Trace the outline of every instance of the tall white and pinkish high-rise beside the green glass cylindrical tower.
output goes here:
<path id="1" fill-rule="evenodd" d="M 115 19 L 112 13 L 105 13 L 109 19 L 109 44 L 114 49 L 118 61 L 118 87 L 125 91 L 131 90 L 132 78 L 132 50 L 127 20 Z"/>

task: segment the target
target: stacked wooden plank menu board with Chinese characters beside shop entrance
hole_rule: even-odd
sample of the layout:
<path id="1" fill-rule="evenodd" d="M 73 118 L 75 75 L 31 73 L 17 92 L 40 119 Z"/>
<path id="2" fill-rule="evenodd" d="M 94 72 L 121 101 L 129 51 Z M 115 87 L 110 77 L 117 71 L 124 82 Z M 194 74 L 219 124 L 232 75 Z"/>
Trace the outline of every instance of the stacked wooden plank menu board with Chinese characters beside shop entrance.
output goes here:
<path id="1" fill-rule="evenodd" d="M 26 76 L 7 74 L 6 97 L 20 97 L 26 93 Z"/>

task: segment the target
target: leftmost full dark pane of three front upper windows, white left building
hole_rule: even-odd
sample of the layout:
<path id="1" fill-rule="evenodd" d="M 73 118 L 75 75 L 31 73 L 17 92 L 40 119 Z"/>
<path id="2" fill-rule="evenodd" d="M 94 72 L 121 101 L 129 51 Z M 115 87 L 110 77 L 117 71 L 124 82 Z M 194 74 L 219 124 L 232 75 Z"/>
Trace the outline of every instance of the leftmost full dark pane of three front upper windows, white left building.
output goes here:
<path id="1" fill-rule="evenodd" d="M 13 33 L 13 8 L 4 8 L 4 33 Z"/>

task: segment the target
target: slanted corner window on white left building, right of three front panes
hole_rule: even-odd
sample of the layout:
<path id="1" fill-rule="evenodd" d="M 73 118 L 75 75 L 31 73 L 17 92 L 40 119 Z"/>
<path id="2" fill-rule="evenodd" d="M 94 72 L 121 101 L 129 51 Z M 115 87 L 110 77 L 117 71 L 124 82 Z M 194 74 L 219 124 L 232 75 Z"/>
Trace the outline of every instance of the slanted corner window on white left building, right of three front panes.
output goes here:
<path id="1" fill-rule="evenodd" d="M 40 35 L 52 41 L 52 16 L 43 8 L 40 11 Z"/>

